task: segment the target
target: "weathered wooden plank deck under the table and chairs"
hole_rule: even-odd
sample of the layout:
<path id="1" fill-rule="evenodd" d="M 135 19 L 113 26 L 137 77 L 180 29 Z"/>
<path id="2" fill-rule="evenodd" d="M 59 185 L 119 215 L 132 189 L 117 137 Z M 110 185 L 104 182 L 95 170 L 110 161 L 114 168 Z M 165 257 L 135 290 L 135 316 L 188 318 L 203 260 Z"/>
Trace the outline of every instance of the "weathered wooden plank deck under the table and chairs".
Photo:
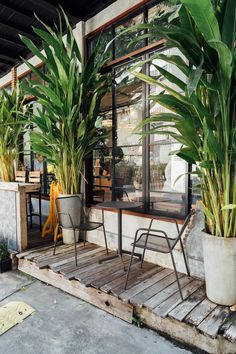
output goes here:
<path id="1" fill-rule="evenodd" d="M 236 312 L 209 301 L 201 280 L 179 274 L 181 302 L 172 270 L 148 262 L 141 269 L 135 260 L 125 290 L 120 259 L 99 264 L 104 256 L 103 247 L 79 244 L 76 267 L 73 246 L 58 246 L 55 256 L 48 246 L 18 254 L 18 268 L 130 323 L 136 318 L 209 353 L 236 353 Z M 127 265 L 130 256 L 123 259 Z"/>

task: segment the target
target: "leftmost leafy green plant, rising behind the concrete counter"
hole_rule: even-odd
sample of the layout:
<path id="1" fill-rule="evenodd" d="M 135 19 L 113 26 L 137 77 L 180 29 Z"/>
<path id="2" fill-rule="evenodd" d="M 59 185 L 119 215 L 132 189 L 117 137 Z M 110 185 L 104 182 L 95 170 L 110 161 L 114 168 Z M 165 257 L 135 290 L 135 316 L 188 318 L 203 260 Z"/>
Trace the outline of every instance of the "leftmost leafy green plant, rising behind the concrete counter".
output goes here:
<path id="1" fill-rule="evenodd" d="M 19 87 L 8 93 L 0 91 L 0 180 L 15 179 L 14 165 L 18 166 L 23 133 L 28 122 L 27 105 Z"/>

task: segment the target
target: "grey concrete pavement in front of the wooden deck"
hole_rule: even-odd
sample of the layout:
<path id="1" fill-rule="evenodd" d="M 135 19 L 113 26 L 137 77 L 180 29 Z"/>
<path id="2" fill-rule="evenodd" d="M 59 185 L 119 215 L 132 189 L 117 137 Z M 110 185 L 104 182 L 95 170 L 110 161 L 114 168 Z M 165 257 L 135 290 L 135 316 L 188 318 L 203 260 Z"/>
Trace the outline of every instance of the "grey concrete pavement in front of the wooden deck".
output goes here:
<path id="1" fill-rule="evenodd" d="M 0 274 L 0 306 L 13 300 L 36 312 L 0 337 L 1 354 L 192 353 L 19 272 Z"/>

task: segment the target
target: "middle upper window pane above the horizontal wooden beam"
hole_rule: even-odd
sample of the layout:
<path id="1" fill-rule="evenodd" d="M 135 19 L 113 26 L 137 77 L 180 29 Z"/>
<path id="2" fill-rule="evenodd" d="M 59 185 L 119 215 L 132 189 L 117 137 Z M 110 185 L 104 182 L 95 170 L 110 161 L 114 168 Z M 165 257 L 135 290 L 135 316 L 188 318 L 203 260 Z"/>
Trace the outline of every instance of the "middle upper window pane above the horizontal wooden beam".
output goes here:
<path id="1" fill-rule="evenodd" d="M 122 24 L 115 28 L 115 36 L 119 35 L 122 31 L 130 28 L 134 25 L 143 23 L 144 16 L 143 13 L 125 20 Z M 127 32 L 120 37 L 115 39 L 115 58 L 120 58 L 128 53 L 131 53 L 137 49 L 144 47 L 144 40 L 139 40 L 132 43 L 132 40 L 138 38 L 142 34 L 142 31 Z"/>

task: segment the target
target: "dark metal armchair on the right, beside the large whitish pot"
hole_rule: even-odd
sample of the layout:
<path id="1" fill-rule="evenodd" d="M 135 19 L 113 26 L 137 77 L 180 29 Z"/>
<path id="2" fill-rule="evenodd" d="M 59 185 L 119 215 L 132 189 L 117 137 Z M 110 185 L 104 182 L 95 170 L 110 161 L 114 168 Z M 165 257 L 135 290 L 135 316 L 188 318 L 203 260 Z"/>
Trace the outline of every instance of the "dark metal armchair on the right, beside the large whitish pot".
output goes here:
<path id="1" fill-rule="evenodd" d="M 177 280 L 177 284 L 178 284 L 178 288 L 179 288 L 180 297 L 183 300 L 183 293 L 182 293 L 182 290 L 180 287 L 179 277 L 178 277 L 178 273 L 176 270 L 175 260 L 174 260 L 174 256 L 173 256 L 173 250 L 174 250 L 175 246 L 177 245 L 177 243 L 180 242 L 180 246 L 181 246 L 181 249 L 183 252 L 183 258 L 184 258 L 186 271 L 187 271 L 188 276 L 190 276 L 190 271 L 189 271 L 189 267 L 187 264 L 187 258 L 185 255 L 185 251 L 184 251 L 183 242 L 182 242 L 181 237 L 182 237 L 184 231 L 186 230 L 186 227 L 188 226 L 189 221 L 194 213 L 195 213 L 194 210 L 192 210 L 189 213 L 189 215 L 187 216 L 187 218 L 184 221 L 184 224 L 183 224 L 181 230 L 179 229 L 179 225 L 178 225 L 177 221 L 175 220 L 175 224 L 176 224 L 176 228 L 177 228 L 177 232 L 178 232 L 178 235 L 175 238 L 168 237 L 167 233 L 163 230 L 152 229 L 152 223 L 154 220 L 156 220 L 156 218 L 151 219 L 149 228 L 140 228 L 136 231 L 134 242 L 132 243 L 133 248 L 132 248 L 131 259 L 130 259 L 130 263 L 129 263 L 129 267 L 128 267 L 128 271 L 127 271 L 127 276 L 126 276 L 126 280 L 125 280 L 125 289 L 127 288 L 129 274 L 130 274 L 133 256 L 134 256 L 134 251 L 135 251 L 136 247 L 143 249 L 143 254 L 142 254 L 142 259 L 141 259 L 141 267 L 143 265 L 146 250 L 154 251 L 154 252 L 161 252 L 161 253 L 170 253 L 175 276 L 176 276 L 176 280 Z M 140 232 L 141 232 L 141 235 L 140 235 Z"/>

